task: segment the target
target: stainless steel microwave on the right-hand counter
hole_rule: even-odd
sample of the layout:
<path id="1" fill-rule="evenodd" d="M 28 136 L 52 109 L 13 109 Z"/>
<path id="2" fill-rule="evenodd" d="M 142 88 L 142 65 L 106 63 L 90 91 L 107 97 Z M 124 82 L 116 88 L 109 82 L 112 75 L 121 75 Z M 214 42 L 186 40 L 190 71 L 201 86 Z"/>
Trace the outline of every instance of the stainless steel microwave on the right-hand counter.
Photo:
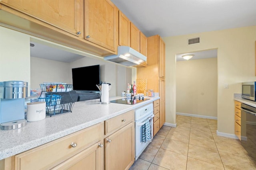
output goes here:
<path id="1" fill-rule="evenodd" d="M 242 83 L 242 98 L 256 101 L 256 82 L 243 82 Z"/>

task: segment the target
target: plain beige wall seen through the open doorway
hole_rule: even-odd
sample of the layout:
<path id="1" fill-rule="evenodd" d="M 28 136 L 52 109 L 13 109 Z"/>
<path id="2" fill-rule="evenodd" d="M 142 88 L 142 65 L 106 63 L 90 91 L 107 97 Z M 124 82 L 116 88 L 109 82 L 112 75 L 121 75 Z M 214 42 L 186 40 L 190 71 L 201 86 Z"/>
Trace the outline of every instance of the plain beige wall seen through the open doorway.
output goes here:
<path id="1" fill-rule="evenodd" d="M 176 62 L 176 112 L 217 117 L 217 58 Z"/>

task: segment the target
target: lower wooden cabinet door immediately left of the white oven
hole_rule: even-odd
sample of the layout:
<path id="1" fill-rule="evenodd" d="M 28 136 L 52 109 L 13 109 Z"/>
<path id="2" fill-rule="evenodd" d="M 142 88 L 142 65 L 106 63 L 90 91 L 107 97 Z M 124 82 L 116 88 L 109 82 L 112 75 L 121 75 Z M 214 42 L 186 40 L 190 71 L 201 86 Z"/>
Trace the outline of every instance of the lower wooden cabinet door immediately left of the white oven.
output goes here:
<path id="1" fill-rule="evenodd" d="M 129 169 L 135 159 L 134 150 L 134 122 L 132 122 L 105 138 L 106 170 Z"/>

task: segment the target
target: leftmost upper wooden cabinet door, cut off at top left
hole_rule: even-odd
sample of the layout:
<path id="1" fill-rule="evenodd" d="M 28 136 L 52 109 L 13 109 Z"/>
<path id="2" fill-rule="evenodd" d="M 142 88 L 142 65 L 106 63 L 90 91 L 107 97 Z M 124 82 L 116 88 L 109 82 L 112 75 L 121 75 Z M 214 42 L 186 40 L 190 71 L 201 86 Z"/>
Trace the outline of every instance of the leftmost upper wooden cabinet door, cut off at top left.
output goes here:
<path id="1" fill-rule="evenodd" d="M 79 36 L 82 5 L 80 0 L 1 0 L 23 14 Z"/>

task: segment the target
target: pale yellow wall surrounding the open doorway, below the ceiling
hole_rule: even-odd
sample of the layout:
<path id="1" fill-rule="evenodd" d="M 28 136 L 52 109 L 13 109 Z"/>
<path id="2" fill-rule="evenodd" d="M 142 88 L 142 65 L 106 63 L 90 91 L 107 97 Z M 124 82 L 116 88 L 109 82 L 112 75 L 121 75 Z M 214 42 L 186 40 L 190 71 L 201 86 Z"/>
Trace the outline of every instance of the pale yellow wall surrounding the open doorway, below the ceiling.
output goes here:
<path id="1" fill-rule="evenodd" d="M 200 36 L 201 42 L 187 45 Z M 164 37 L 166 43 L 166 122 L 176 122 L 176 54 L 218 49 L 218 132 L 234 135 L 234 93 L 241 82 L 255 81 L 256 26 Z M 224 83 L 229 88 L 224 89 Z"/>

